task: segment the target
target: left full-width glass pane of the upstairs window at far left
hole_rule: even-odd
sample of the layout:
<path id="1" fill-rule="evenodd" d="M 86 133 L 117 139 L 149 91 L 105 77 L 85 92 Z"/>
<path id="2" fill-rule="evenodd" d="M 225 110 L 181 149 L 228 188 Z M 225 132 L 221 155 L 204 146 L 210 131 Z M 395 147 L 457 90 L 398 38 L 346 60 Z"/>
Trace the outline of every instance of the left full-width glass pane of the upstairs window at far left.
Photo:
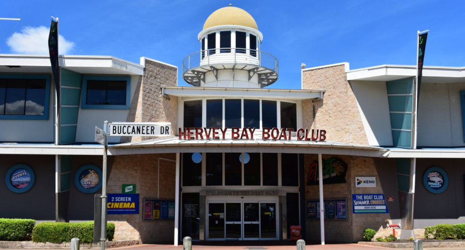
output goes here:
<path id="1" fill-rule="evenodd" d="M 24 115 L 26 103 L 25 79 L 8 79 L 6 85 L 5 115 Z"/>

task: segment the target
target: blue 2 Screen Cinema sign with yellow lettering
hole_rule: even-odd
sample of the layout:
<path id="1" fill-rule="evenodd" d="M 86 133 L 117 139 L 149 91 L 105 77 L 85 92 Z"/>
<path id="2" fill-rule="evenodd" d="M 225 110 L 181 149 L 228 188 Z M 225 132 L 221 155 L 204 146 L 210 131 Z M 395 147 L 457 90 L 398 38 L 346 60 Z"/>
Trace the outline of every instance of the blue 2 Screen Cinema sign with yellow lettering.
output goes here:
<path id="1" fill-rule="evenodd" d="M 108 214 L 138 214 L 139 193 L 109 193 Z"/>

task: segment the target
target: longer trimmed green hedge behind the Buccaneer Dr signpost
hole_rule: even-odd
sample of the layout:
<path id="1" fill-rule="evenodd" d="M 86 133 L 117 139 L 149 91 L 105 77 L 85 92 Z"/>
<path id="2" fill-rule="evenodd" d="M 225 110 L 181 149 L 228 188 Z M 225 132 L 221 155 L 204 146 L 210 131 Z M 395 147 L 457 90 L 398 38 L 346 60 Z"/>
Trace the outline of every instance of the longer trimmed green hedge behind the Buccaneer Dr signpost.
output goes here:
<path id="1" fill-rule="evenodd" d="M 115 223 L 107 223 L 107 238 L 113 240 Z M 62 243 L 78 237 L 82 243 L 93 242 L 93 221 L 87 222 L 42 222 L 38 223 L 32 232 L 32 241 Z"/>

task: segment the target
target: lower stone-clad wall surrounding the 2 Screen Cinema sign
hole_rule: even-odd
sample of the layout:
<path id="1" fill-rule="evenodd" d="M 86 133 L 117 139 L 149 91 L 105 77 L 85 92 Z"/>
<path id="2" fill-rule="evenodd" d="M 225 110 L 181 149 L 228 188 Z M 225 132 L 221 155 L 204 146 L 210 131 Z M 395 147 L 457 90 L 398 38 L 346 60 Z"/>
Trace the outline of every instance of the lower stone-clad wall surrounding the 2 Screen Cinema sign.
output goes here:
<path id="1" fill-rule="evenodd" d="M 139 214 L 108 215 L 115 223 L 114 240 L 140 243 L 171 242 L 174 221 L 143 221 L 143 198 L 157 198 L 158 158 L 175 160 L 175 154 L 136 154 L 116 156 L 109 174 L 108 193 L 121 193 L 122 184 L 136 184 L 140 194 Z M 175 162 L 160 159 L 160 199 L 174 200 Z"/>

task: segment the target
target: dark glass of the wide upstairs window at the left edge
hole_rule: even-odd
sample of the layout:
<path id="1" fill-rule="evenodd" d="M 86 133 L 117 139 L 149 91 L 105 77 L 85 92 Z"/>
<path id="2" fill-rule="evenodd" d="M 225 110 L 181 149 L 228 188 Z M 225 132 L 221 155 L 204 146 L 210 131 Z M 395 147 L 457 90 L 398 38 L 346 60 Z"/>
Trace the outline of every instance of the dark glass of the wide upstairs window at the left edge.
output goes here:
<path id="1" fill-rule="evenodd" d="M 0 115 L 42 116 L 45 79 L 0 79 Z"/>

